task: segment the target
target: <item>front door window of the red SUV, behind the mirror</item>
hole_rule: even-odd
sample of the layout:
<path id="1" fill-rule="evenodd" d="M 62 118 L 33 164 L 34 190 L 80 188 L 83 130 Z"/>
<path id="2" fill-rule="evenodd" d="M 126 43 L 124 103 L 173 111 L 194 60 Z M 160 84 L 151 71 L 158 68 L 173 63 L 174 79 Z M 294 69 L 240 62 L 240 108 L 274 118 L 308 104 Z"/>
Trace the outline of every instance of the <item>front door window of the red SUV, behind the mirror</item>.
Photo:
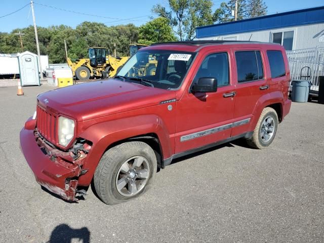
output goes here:
<path id="1" fill-rule="evenodd" d="M 229 67 L 227 53 L 215 53 L 207 56 L 201 63 L 193 83 L 197 83 L 200 77 L 217 78 L 217 86 L 229 85 Z"/>

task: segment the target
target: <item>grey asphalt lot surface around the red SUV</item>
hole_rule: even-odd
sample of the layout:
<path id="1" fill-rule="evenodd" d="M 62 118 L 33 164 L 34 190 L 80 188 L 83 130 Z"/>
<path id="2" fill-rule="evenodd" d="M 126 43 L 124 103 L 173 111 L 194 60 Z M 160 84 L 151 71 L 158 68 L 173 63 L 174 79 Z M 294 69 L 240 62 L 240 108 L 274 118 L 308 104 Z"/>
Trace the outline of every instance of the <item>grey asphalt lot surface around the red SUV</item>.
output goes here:
<path id="1" fill-rule="evenodd" d="M 41 189 L 19 149 L 49 89 L 0 88 L 0 242 L 324 241 L 324 105 L 293 103 L 268 149 L 226 144 L 178 159 L 129 203 L 89 189 L 71 204 Z"/>

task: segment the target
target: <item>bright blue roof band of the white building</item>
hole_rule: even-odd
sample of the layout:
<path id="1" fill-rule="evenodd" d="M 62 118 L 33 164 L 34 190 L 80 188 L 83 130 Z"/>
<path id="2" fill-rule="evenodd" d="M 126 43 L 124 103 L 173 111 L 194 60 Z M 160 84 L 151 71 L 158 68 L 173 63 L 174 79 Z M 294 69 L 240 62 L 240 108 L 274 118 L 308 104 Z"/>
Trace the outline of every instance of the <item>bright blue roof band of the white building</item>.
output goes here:
<path id="1" fill-rule="evenodd" d="M 255 32 L 307 24 L 324 23 L 324 6 L 256 17 L 252 19 L 207 25 L 196 28 L 196 37 L 211 37 Z"/>

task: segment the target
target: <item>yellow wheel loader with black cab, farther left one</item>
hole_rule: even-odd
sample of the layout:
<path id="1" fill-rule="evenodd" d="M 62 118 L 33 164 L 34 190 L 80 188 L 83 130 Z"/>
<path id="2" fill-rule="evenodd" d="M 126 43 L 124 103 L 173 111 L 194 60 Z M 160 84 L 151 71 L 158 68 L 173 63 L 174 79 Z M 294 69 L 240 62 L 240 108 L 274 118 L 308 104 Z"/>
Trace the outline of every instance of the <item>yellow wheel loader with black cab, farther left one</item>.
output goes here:
<path id="1" fill-rule="evenodd" d="M 91 47 L 88 48 L 89 58 L 77 59 L 75 62 L 67 58 L 67 64 L 78 80 L 101 77 L 102 74 L 112 77 L 116 74 L 117 68 L 124 65 L 129 57 L 113 57 L 107 54 L 105 48 Z"/>

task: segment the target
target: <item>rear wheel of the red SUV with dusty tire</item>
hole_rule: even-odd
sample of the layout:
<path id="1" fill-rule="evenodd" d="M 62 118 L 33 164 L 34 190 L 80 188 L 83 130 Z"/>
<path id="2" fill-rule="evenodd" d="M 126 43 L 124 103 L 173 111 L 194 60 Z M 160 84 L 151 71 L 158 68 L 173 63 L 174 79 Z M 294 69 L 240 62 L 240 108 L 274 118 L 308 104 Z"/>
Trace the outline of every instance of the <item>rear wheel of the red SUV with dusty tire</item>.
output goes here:
<path id="1" fill-rule="evenodd" d="M 275 138 L 278 124 L 277 112 L 270 107 L 264 108 L 252 137 L 247 139 L 248 144 L 257 149 L 268 147 Z"/>

